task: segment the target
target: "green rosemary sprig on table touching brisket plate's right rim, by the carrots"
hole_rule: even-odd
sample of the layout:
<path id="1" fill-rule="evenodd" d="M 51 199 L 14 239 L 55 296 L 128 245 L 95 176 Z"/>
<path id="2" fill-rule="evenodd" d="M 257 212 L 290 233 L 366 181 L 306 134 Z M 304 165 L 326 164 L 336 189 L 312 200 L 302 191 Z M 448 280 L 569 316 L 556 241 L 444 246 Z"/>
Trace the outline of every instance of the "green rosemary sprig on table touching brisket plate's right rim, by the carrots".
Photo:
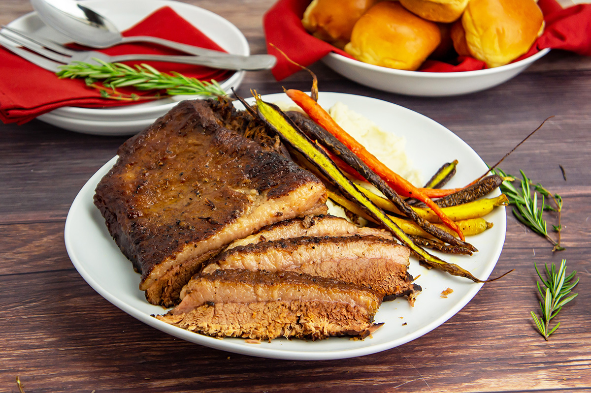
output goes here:
<path id="1" fill-rule="evenodd" d="M 502 176 L 506 179 L 501 184 L 501 192 L 509 199 L 509 204 L 514 205 L 513 214 L 522 222 L 527 225 L 532 231 L 542 235 L 546 238 L 554 247 L 552 251 L 564 250 L 564 247 L 560 245 L 560 232 L 562 230 L 560 224 L 560 211 L 562 209 L 562 198 L 558 194 L 552 194 L 550 191 L 545 189 L 541 184 L 533 184 L 523 171 L 521 172 L 521 182 L 519 189 L 517 189 L 512 183 L 510 178 L 516 179 L 515 176 L 507 175 L 501 169 L 493 169 L 497 175 Z M 541 195 L 541 208 L 538 208 L 538 194 Z M 549 198 L 554 202 L 554 207 L 545 203 L 546 199 Z M 557 213 L 557 225 L 552 225 L 554 232 L 557 233 L 557 239 L 554 240 L 548 234 L 548 228 L 546 221 L 543 218 L 544 211 L 555 211 Z"/>

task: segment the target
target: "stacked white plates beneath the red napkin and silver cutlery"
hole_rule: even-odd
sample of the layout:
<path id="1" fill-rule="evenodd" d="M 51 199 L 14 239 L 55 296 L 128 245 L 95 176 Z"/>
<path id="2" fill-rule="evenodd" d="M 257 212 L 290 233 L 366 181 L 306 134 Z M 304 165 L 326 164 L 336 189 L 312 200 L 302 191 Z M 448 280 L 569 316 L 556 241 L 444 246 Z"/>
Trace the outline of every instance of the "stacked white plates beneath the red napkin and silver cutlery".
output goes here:
<path id="1" fill-rule="evenodd" d="M 248 42 L 235 25 L 206 9 L 171 0 L 86 0 L 100 14 L 106 15 L 116 27 L 123 31 L 163 6 L 170 6 L 190 24 L 199 28 L 228 53 L 249 55 Z M 34 32 L 53 41 L 70 42 L 58 32 L 41 22 L 35 12 L 15 19 L 9 27 L 25 32 Z M 171 27 L 174 28 L 174 27 Z M 236 71 L 228 79 L 218 81 L 223 90 L 238 87 L 244 71 Z M 199 96 L 176 96 L 163 100 L 136 105 L 95 109 L 82 107 L 61 107 L 38 117 L 39 120 L 63 129 L 93 135 L 132 135 L 151 125 L 155 119 L 167 113 L 178 101 Z"/>

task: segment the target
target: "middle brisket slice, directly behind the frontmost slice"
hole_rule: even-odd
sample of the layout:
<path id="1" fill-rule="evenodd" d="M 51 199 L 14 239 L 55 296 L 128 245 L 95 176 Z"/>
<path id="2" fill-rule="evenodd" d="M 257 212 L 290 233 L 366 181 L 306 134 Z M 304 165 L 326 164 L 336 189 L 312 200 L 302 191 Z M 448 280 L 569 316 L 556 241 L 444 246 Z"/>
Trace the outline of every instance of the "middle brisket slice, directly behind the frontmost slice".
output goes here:
<path id="1" fill-rule="evenodd" d="M 409 255 L 408 248 L 372 235 L 296 237 L 224 251 L 202 273 L 218 269 L 295 271 L 369 287 L 387 299 L 408 296 L 413 302 L 421 287 L 408 274 Z"/>

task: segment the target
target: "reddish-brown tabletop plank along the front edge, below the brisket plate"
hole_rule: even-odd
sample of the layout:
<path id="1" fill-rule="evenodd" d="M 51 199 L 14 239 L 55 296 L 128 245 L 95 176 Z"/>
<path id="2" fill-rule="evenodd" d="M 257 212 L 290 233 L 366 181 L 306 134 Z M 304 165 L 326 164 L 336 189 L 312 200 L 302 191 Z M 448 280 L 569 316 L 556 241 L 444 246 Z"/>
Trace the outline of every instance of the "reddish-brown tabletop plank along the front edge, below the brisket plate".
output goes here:
<path id="1" fill-rule="evenodd" d="M 342 390 L 343 385 L 349 387 L 346 391 L 385 391 L 408 381 L 417 389 L 407 384 L 404 391 L 427 391 L 424 382 L 440 392 L 507 391 L 508 383 L 514 391 L 588 387 L 591 333 L 586 326 L 591 315 L 576 310 L 589 304 L 591 280 L 582 280 L 580 297 L 560 316 L 563 326 L 545 342 L 530 322 L 529 310 L 536 303 L 533 274 L 530 268 L 530 274 L 485 285 L 449 322 L 400 348 L 311 363 L 253 361 L 174 339 L 117 310 L 75 271 L 5 276 L 0 356 L 8 374 L 19 373 L 41 392 L 122 387 L 191 391 L 187 384 L 210 392 L 311 392 L 320 384 L 326 391 Z M 14 323 L 15 316 L 20 323 Z M 73 378 L 74 370 L 83 378 Z"/>

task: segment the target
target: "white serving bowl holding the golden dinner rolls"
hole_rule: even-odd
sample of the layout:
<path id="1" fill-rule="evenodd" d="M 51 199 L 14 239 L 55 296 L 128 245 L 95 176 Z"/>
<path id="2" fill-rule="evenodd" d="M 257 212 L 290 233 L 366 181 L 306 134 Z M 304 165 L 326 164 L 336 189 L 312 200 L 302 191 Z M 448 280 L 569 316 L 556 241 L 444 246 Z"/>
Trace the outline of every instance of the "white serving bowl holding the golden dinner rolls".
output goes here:
<path id="1" fill-rule="evenodd" d="M 336 53 L 326 55 L 322 61 L 342 76 L 374 89 L 408 96 L 443 97 L 474 93 L 504 83 L 549 51 L 544 49 L 501 67 L 457 73 L 395 70 L 362 63 Z"/>

